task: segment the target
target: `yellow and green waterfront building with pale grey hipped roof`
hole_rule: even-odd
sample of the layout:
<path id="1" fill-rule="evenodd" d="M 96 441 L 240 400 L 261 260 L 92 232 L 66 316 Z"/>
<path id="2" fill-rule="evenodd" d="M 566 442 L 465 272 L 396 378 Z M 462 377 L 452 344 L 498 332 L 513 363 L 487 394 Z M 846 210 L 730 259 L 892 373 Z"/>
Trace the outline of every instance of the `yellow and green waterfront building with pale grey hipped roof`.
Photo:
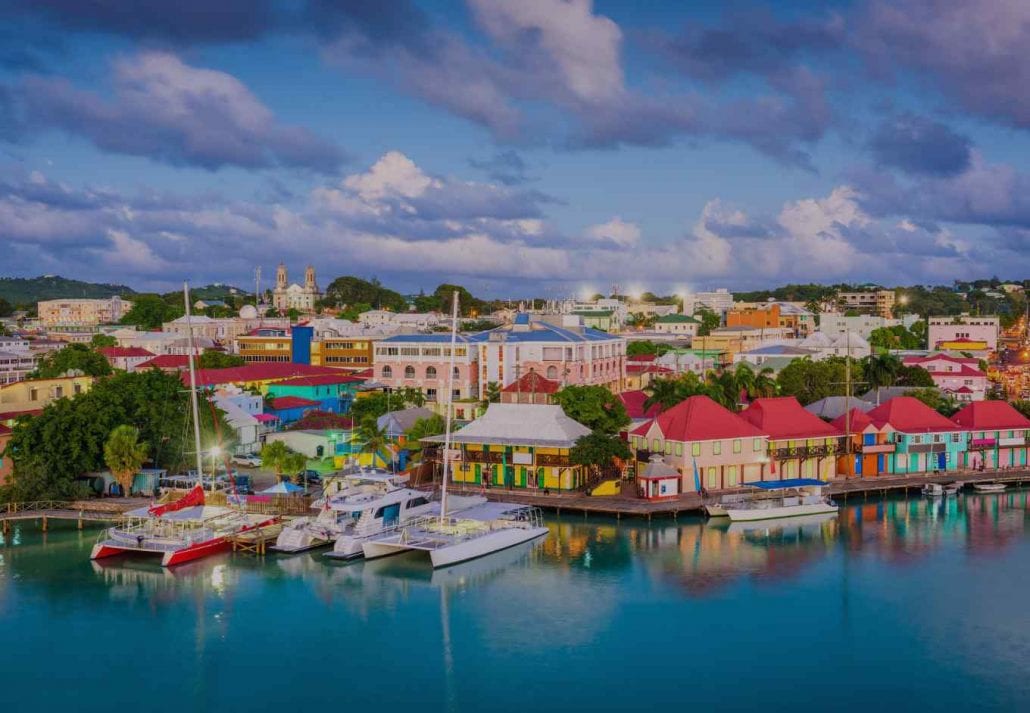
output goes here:
<path id="1" fill-rule="evenodd" d="M 589 433 L 560 406 L 490 404 L 486 413 L 451 436 L 456 457 L 452 479 L 468 485 L 575 489 L 588 473 L 570 461 L 569 451 Z M 444 437 L 422 442 L 440 445 Z M 439 452 L 427 455 L 441 457 Z"/>

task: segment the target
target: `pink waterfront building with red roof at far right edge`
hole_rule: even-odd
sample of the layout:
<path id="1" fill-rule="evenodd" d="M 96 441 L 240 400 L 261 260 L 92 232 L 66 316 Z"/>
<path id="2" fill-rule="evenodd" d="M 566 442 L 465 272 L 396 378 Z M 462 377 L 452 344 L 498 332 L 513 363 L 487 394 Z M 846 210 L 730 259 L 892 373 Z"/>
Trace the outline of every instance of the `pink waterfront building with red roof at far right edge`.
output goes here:
<path id="1" fill-rule="evenodd" d="M 1027 466 L 1030 418 L 1006 401 L 976 401 L 952 416 L 969 431 L 966 468 L 1015 468 Z"/>

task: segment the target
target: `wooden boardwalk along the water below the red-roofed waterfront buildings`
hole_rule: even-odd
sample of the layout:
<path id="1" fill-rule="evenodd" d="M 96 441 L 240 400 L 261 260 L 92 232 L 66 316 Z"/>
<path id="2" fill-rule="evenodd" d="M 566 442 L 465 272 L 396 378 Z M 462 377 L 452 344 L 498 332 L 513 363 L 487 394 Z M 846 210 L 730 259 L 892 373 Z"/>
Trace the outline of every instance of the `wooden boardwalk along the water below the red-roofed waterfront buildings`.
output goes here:
<path id="1" fill-rule="evenodd" d="M 855 498 L 868 499 L 884 497 L 891 493 L 922 488 L 926 483 L 976 483 L 1003 482 L 1012 485 L 1030 484 L 1030 469 L 986 470 L 986 471 L 949 471 L 947 473 L 929 475 L 889 475 L 871 478 L 847 478 L 832 480 L 827 483 L 826 493 L 840 504 L 847 504 Z M 629 483 L 624 483 L 625 489 Z M 539 491 L 509 490 L 493 488 L 453 488 L 451 493 L 465 496 L 485 496 L 491 501 L 504 501 L 530 505 L 561 514 L 562 512 L 582 513 L 583 516 L 596 515 L 600 517 L 677 517 L 680 514 L 698 514 L 701 512 L 701 497 L 696 493 L 688 493 L 676 498 L 660 501 L 648 501 L 636 495 L 619 496 L 588 496 L 583 493 L 560 493 L 544 495 Z M 739 490 L 716 490 L 711 495 L 718 497 Z"/>

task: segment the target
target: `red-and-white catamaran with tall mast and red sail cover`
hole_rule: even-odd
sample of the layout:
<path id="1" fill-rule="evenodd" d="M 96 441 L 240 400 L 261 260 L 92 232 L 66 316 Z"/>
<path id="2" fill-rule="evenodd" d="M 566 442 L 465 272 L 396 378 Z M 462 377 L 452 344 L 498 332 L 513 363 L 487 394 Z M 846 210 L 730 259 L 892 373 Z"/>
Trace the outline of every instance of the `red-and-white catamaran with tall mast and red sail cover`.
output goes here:
<path id="1" fill-rule="evenodd" d="M 163 567 L 174 567 L 221 552 L 232 546 L 235 535 L 276 521 L 268 515 L 251 515 L 234 508 L 207 505 L 204 494 L 204 463 L 200 446 L 200 408 L 197 401 L 197 371 L 190 312 L 190 286 L 182 285 L 188 335 L 190 405 L 197 454 L 197 484 L 185 496 L 163 505 L 138 508 L 125 513 L 125 520 L 103 531 L 93 547 L 91 559 L 117 554 L 158 554 Z"/>

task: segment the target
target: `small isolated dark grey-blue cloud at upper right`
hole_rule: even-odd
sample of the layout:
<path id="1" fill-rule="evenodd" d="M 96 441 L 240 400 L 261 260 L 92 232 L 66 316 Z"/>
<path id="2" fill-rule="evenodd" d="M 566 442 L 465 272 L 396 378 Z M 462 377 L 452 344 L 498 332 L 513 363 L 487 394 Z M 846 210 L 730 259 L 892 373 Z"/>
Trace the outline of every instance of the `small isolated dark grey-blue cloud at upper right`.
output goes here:
<path id="1" fill-rule="evenodd" d="M 915 114 L 884 121 L 869 139 L 869 149 L 881 166 L 936 176 L 968 169 L 970 145 L 968 137 Z"/>

